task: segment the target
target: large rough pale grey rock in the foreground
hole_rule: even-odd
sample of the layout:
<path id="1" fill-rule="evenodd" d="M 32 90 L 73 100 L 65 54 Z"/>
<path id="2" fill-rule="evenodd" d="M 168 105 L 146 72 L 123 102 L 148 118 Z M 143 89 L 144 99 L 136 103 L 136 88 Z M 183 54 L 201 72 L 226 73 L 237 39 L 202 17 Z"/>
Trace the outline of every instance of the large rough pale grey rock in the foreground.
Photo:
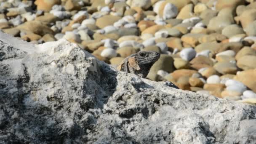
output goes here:
<path id="1" fill-rule="evenodd" d="M 117 72 L 61 39 L 0 33 L 0 143 L 253 144 L 256 107 Z"/>

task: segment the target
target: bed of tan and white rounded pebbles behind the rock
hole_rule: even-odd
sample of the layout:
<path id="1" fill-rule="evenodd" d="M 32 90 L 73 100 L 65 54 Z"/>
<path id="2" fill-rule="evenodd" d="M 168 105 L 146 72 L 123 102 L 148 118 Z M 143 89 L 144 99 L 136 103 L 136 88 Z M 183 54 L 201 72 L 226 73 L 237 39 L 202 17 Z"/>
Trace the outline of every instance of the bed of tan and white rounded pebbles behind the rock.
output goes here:
<path id="1" fill-rule="evenodd" d="M 148 79 L 256 104 L 254 0 L 0 0 L 0 30 L 65 38 L 113 67 L 157 51 Z"/>

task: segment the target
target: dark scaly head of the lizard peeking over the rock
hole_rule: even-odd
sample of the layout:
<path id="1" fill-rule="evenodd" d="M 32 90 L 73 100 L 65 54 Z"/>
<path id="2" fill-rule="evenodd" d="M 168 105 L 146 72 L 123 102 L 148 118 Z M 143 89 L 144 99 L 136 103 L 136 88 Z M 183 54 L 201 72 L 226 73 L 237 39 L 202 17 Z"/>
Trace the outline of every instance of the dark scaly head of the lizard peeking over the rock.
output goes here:
<path id="1" fill-rule="evenodd" d="M 136 59 L 140 65 L 153 65 L 160 58 L 160 53 L 156 51 L 139 51 Z"/>

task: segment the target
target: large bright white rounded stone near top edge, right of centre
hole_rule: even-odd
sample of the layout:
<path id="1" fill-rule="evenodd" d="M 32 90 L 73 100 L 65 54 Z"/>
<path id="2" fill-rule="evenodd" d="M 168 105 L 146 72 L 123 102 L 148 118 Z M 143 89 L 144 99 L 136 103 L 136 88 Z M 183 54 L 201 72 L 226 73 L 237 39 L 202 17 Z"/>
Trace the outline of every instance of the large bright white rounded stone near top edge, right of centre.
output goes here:
<path id="1" fill-rule="evenodd" d="M 172 3 L 167 3 L 163 9 L 163 19 L 171 19 L 177 16 L 178 8 Z"/>

